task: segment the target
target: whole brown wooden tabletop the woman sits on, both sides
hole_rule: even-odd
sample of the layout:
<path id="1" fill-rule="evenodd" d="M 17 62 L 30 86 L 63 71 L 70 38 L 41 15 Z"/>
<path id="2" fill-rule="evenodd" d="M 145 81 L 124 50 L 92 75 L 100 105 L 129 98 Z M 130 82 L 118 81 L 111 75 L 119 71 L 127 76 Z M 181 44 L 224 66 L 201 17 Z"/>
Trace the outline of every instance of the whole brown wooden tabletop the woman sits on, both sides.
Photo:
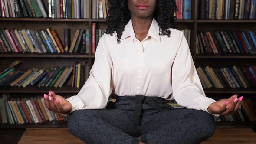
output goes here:
<path id="1" fill-rule="evenodd" d="M 83 144 L 68 128 L 27 128 L 18 144 Z M 201 144 L 255 144 L 256 133 L 249 128 L 216 128 Z"/>

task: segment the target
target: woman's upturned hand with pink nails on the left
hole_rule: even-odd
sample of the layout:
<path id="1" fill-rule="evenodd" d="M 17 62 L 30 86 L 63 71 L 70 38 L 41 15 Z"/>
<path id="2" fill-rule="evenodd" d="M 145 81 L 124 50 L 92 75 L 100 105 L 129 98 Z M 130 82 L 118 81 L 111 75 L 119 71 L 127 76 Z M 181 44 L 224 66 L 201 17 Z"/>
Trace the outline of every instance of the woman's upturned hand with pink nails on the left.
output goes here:
<path id="1" fill-rule="evenodd" d="M 60 112 L 62 114 L 72 111 L 72 105 L 69 101 L 60 95 L 56 95 L 53 91 L 49 94 L 44 94 L 44 102 L 49 111 Z"/>

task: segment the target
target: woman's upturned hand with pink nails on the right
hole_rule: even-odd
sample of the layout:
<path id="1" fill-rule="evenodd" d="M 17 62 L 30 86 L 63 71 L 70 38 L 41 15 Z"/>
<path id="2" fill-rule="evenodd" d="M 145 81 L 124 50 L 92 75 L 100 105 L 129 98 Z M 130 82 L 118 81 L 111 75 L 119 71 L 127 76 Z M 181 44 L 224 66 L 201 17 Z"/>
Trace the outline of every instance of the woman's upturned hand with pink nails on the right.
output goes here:
<path id="1" fill-rule="evenodd" d="M 241 109 L 243 96 L 237 98 L 233 95 L 230 98 L 222 99 L 209 105 L 208 112 L 213 114 L 229 115 L 234 114 Z M 226 105 L 227 104 L 227 105 Z"/>

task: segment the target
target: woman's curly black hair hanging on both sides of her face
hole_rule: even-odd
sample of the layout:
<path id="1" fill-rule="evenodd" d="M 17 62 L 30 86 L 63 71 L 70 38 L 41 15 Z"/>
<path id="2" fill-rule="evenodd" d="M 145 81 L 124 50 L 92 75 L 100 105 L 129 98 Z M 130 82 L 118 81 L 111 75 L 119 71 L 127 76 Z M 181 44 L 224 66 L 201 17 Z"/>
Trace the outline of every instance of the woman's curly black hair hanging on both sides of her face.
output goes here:
<path id="1" fill-rule="evenodd" d="M 175 0 L 157 0 L 157 6 L 153 13 L 155 20 L 160 27 L 159 35 L 167 35 L 170 37 L 171 31 L 169 28 L 177 28 L 176 16 L 177 6 Z M 121 41 L 121 36 L 125 30 L 125 25 L 131 19 L 131 12 L 128 9 L 127 0 L 108 0 L 108 28 L 106 34 L 112 34 L 114 31 L 117 33 L 117 43 Z"/>

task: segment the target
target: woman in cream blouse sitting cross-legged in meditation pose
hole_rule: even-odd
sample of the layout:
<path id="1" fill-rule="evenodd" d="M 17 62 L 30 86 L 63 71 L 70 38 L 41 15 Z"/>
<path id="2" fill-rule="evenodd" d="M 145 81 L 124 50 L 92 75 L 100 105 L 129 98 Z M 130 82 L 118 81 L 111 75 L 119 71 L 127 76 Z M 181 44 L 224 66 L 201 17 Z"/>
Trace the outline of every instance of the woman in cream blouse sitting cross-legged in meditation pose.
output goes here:
<path id="1" fill-rule="evenodd" d="M 71 134 L 87 144 L 200 143 L 214 134 L 213 115 L 240 110 L 243 97 L 205 96 L 184 34 L 174 29 L 175 0 L 108 4 L 108 29 L 78 95 L 44 95 L 49 110 L 69 115 Z M 102 109 L 109 96 L 116 101 Z"/>

